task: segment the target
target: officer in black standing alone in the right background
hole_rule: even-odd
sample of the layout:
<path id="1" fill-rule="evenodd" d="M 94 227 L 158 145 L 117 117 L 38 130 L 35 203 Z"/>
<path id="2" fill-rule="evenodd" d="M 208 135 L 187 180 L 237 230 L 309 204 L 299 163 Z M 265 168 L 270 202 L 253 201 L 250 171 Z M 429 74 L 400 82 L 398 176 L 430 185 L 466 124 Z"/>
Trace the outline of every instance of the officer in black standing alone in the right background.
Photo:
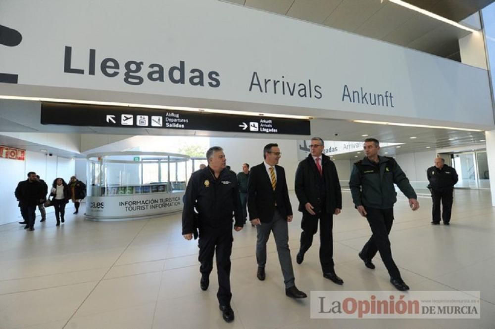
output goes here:
<path id="1" fill-rule="evenodd" d="M 450 213 L 452 210 L 454 185 L 459 180 L 457 172 L 451 166 L 445 164 L 445 159 L 436 158 L 435 165 L 427 170 L 430 184 L 428 188 L 432 193 L 433 200 L 433 225 L 440 224 L 440 203 L 444 206 L 442 219 L 444 225 L 450 225 Z"/>

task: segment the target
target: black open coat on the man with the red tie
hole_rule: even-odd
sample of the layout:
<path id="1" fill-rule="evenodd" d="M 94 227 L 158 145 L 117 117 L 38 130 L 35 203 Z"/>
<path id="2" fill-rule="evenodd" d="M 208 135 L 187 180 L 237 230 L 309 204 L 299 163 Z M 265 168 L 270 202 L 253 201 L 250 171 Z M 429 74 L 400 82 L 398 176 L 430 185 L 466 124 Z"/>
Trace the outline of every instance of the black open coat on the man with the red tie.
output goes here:
<path id="1" fill-rule="evenodd" d="M 306 212 L 306 203 L 310 203 L 318 212 L 325 206 L 327 213 L 334 213 L 336 208 L 342 209 L 342 191 L 335 164 L 329 157 L 322 154 L 322 172 L 324 177 L 325 200 L 320 200 L 318 180 L 322 179 L 313 156 L 301 161 L 296 171 L 296 195 L 299 200 L 299 211 Z"/>

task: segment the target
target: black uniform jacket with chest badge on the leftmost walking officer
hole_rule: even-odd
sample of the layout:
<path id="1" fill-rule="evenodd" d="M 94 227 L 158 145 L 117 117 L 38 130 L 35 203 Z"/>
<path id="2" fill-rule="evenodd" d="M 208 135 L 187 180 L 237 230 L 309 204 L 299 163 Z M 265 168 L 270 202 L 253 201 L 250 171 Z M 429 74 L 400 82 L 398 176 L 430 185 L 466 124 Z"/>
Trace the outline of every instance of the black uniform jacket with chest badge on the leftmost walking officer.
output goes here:
<path id="1" fill-rule="evenodd" d="M 209 166 L 195 171 L 186 188 L 182 234 L 194 233 L 196 228 L 232 230 L 234 216 L 235 226 L 244 226 L 245 219 L 235 172 L 224 169 L 220 176 L 215 178 Z M 197 223 L 195 217 L 198 218 Z"/>

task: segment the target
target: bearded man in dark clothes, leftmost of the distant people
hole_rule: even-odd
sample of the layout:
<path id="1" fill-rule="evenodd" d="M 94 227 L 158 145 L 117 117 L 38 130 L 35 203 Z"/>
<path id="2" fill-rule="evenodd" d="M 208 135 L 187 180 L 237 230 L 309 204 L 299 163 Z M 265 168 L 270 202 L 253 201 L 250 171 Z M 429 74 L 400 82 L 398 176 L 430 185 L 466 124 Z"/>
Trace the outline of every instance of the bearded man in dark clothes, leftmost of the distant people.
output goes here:
<path id="1" fill-rule="evenodd" d="M 43 186 L 36 179 L 36 172 L 28 172 L 28 179 L 20 181 L 15 189 L 15 197 L 19 201 L 22 218 L 26 224 L 24 229 L 34 231 L 34 221 L 36 218 L 36 206 L 43 200 Z M 46 195 L 45 195 L 46 197 Z"/>

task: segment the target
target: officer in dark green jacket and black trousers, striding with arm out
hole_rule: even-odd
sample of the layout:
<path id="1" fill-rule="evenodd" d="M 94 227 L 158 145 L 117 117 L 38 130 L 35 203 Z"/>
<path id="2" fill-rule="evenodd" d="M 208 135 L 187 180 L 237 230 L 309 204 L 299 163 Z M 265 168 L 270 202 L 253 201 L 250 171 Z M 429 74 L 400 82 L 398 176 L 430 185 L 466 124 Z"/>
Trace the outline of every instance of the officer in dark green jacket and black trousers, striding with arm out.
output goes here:
<path id="1" fill-rule="evenodd" d="M 419 203 L 414 189 L 395 159 L 380 157 L 379 151 L 379 141 L 375 138 L 366 138 L 364 140 L 366 157 L 354 164 L 350 174 L 349 187 L 352 201 L 361 216 L 368 220 L 373 233 L 359 253 L 359 257 L 366 267 L 374 269 L 375 265 L 371 260 L 379 251 L 389 272 L 390 282 L 397 290 L 408 290 L 409 287 L 400 277 L 399 269 L 392 259 L 389 241 L 389 233 L 394 221 L 394 204 L 397 201 L 394 183 L 409 199 L 412 210 L 417 210 Z"/>

